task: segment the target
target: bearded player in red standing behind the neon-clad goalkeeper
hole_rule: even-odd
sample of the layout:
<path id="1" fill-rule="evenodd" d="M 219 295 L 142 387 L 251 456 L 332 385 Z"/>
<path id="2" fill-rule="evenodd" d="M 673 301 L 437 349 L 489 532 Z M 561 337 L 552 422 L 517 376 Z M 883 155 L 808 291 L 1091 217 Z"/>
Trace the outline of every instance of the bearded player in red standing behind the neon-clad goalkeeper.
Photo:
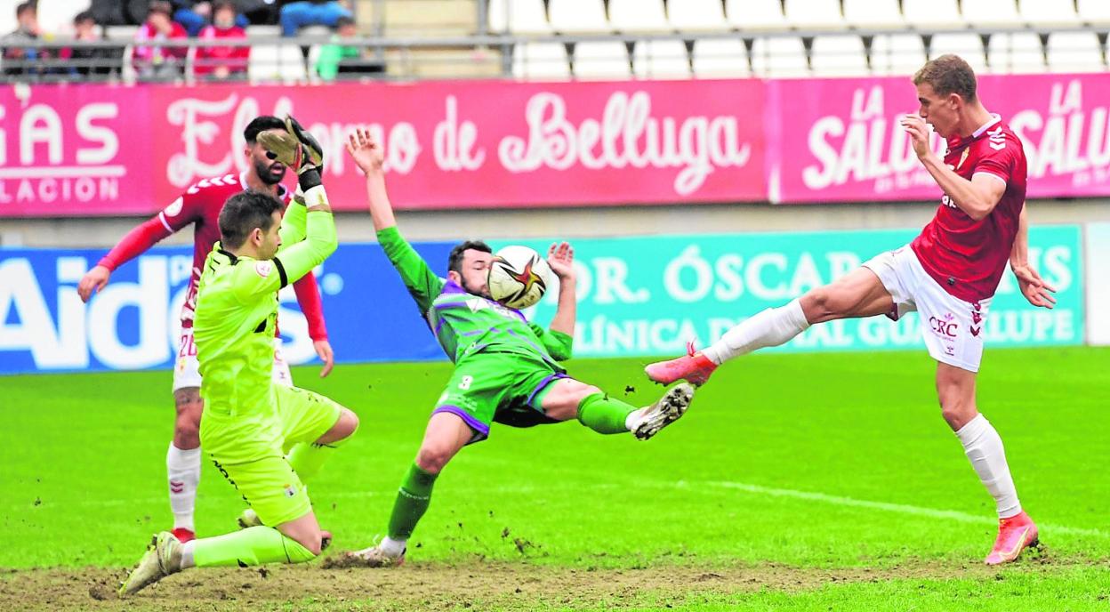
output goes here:
<path id="1" fill-rule="evenodd" d="M 228 198 L 248 189 L 264 191 L 287 203 L 289 190 L 281 184 L 285 177 L 285 165 L 273 158 L 258 143 L 263 131 L 285 133 L 285 123 L 275 117 L 262 116 L 252 120 L 243 131 L 246 147 L 246 170 L 240 174 L 225 174 L 204 179 L 190 187 L 161 212 L 131 230 L 103 259 L 90 270 L 78 284 L 81 299 L 89 301 L 93 292 L 102 289 L 118 267 L 142 254 L 159 241 L 185 227 L 193 225 L 193 272 L 189 280 L 185 302 L 181 309 L 181 341 L 173 368 L 173 401 L 176 420 L 173 441 L 165 458 L 170 484 L 170 509 L 173 511 L 173 534 L 188 542 L 195 534 L 193 508 L 196 486 L 201 476 L 200 418 L 202 402 L 200 395 L 201 375 L 198 371 L 196 345 L 193 343 L 193 310 L 196 307 L 196 283 L 200 280 L 204 258 L 212 245 L 220 240 L 220 210 Z M 293 283 L 296 300 L 309 321 L 309 335 L 316 354 L 324 362 L 320 372 L 326 377 L 334 363 L 332 347 L 327 342 L 323 309 L 316 280 L 309 275 Z M 282 358 L 281 338 L 274 339 L 275 382 L 292 384 L 289 364 Z"/>

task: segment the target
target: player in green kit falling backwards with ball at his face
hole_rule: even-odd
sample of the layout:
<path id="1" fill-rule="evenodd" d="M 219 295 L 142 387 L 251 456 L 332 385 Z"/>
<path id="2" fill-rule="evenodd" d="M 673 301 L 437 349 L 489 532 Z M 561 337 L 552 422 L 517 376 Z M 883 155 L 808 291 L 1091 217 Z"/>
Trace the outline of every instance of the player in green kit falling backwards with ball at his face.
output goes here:
<path id="1" fill-rule="evenodd" d="M 436 277 L 397 232 L 385 191 L 381 147 L 359 130 L 350 138 L 347 152 L 366 175 L 377 240 L 455 370 L 397 491 L 389 535 L 377 545 L 330 558 L 325 566 L 403 563 L 405 542 L 427 510 L 436 476 L 464 445 L 486 439 L 493 422 L 532 427 L 577 419 L 599 433 L 630 432 L 647 440 L 685 413 L 694 397 L 689 384 L 676 385 L 654 404 L 636 408 L 567 377 L 558 364 L 569 359 L 574 337 L 574 251 L 569 244 L 553 244 L 548 252 L 547 261 L 559 278 L 558 308 L 549 329 L 528 323 L 519 311 L 490 299 L 486 281 L 493 254 L 484 242 L 456 245 L 447 279 Z"/>

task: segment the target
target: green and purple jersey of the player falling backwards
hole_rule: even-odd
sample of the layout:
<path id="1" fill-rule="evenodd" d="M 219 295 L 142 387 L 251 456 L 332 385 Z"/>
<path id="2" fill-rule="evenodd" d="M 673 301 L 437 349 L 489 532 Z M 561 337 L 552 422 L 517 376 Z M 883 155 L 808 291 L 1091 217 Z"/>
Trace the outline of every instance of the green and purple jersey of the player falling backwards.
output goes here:
<path id="1" fill-rule="evenodd" d="M 521 311 L 435 275 L 395 227 L 377 232 L 377 241 L 452 361 L 478 351 L 524 353 L 562 371 L 555 362 L 571 359 L 573 338 L 528 323 Z"/>

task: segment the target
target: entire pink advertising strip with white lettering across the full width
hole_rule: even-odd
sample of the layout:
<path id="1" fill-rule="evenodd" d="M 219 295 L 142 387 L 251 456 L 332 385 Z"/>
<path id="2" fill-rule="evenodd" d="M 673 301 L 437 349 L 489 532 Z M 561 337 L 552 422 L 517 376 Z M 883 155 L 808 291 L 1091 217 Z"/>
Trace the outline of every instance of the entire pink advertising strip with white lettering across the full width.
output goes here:
<path id="1" fill-rule="evenodd" d="M 1110 79 L 979 89 L 1026 142 L 1030 198 L 1110 194 Z M 931 200 L 897 124 L 916 109 L 904 78 L 17 86 L 0 89 L 0 217 L 152 213 L 242 171 L 243 127 L 286 112 L 324 144 L 340 210 L 364 205 L 356 126 L 385 144 L 402 209 Z"/>

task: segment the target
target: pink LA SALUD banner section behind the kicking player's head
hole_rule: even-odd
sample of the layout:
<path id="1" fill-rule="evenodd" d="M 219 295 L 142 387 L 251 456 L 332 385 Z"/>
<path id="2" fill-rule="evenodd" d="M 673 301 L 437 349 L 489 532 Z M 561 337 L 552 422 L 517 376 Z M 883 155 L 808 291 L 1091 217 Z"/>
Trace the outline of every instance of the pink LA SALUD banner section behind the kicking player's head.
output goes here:
<path id="1" fill-rule="evenodd" d="M 774 202 L 931 200 L 941 195 L 898 118 L 917 112 L 905 78 L 767 82 L 768 193 Z M 979 78 L 979 97 L 1021 137 L 1029 198 L 1110 194 L 1110 79 Z M 939 153 L 945 144 L 934 136 Z"/>

